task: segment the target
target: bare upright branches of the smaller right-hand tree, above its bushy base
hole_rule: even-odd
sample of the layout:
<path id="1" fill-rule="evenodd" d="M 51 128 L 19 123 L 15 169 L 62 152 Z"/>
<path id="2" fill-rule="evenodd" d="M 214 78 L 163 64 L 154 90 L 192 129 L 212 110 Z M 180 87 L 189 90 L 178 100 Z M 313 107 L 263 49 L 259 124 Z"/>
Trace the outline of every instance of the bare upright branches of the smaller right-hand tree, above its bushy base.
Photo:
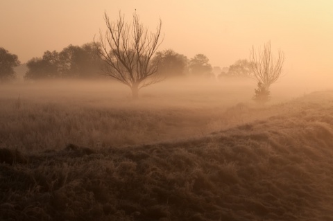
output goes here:
<path id="1" fill-rule="evenodd" d="M 284 62 L 284 53 L 278 51 L 278 57 L 274 58 L 271 53 L 271 42 L 264 44 L 262 51 L 255 51 L 254 46 L 250 51 L 250 68 L 258 82 L 263 87 L 269 87 L 281 76 Z"/>

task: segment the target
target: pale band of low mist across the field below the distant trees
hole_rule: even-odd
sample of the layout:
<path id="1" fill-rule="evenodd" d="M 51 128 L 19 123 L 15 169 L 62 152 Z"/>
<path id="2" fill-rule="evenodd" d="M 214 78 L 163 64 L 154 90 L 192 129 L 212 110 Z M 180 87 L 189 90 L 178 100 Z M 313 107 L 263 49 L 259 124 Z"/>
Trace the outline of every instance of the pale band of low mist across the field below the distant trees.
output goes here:
<path id="1" fill-rule="evenodd" d="M 252 102 L 254 89 L 257 86 L 251 78 L 171 78 L 155 85 L 144 87 L 139 91 L 139 103 L 150 100 L 155 106 L 181 105 L 196 101 L 212 103 L 214 99 L 228 105 L 232 101 Z M 302 78 L 286 75 L 271 86 L 271 103 L 288 100 L 311 91 L 331 89 L 330 80 L 326 78 Z M 107 103 L 131 101 L 130 89 L 115 80 L 17 80 L 9 84 L 1 84 L 0 98 L 33 98 L 35 100 L 65 102 L 67 99 L 85 98 L 82 105 L 89 100 L 107 100 Z M 207 98 L 207 99 L 205 99 Z M 186 103 L 189 101 L 189 103 Z"/>

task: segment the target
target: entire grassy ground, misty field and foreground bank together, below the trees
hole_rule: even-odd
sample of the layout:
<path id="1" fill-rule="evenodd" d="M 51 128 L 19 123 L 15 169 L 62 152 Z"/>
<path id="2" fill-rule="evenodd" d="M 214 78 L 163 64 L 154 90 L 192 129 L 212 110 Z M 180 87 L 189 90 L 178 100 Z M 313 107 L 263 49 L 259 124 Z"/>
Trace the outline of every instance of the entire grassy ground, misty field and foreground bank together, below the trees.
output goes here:
<path id="1" fill-rule="evenodd" d="M 333 220 L 332 91 L 0 90 L 1 220 Z"/>

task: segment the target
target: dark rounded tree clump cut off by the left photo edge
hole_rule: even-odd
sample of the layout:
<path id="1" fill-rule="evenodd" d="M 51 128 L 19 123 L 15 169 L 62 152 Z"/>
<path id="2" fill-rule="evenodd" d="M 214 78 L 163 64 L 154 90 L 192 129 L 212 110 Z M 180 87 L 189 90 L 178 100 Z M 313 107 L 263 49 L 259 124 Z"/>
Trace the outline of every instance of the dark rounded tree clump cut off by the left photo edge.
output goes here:
<path id="1" fill-rule="evenodd" d="M 9 53 L 5 48 L 0 47 L 0 80 L 8 81 L 15 79 L 14 67 L 20 64 L 17 55 Z"/>

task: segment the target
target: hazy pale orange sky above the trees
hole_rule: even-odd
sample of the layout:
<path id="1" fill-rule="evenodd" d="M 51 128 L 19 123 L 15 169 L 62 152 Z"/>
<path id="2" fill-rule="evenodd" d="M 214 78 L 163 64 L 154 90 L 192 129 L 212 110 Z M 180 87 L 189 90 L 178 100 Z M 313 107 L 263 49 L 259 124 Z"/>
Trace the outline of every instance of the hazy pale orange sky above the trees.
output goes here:
<path id="1" fill-rule="evenodd" d="M 333 75 L 332 0 L 1 0 L 0 46 L 26 62 L 92 42 L 105 30 L 104 12 L 131 19 L 135 9 L 152 30 L 162 19 L 161 50 L 203 53 L 227 67 L 271 40 L 274 52 L 284 51 L 287 75 Z"/>

